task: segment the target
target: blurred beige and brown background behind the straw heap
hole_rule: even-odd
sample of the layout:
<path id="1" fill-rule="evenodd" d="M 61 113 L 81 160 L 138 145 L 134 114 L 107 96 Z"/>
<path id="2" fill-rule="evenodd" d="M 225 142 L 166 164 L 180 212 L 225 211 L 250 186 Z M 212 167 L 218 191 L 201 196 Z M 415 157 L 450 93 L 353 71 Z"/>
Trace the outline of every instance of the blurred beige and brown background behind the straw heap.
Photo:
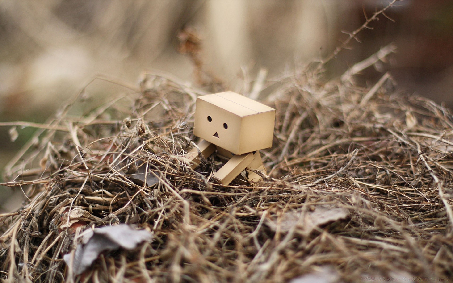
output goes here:
<path id="1" fill-rule="evenodd" d="M 223 87 L 243 91 L 241 80 L 254 80 L 262 68 L 268 77 L 280 76 L 332 53 L 347 38 L 342 31 L 357 29 L 365 14 L 389 2 L 2 0 L 0 122 L 43 122 L 97 74 L 136 84 L 145 69 L 157 69 L 197 86 L 202 80 L 194 61 Z M 359 34 L 361 43 L 352 42 L 329 62 L 328 72 L 341 74 L 395 42 L 390 62 L 366 70 L 360 82 L 372 85 L 390 71 L 407 91 L 453 106 L 452 15 L 451 0 L 398 1 Z M 195 60 L 180 45 L 193 35 Z M 97 81 L 87 95 L 96 104 L 120 91 Z M 8 130 L 0 127 L 0 173 L 34 132 L 19 129 L 11 142 Z M 0 213 L 17 209 L 21 200 L 22 192 L 0 186 Z"/>

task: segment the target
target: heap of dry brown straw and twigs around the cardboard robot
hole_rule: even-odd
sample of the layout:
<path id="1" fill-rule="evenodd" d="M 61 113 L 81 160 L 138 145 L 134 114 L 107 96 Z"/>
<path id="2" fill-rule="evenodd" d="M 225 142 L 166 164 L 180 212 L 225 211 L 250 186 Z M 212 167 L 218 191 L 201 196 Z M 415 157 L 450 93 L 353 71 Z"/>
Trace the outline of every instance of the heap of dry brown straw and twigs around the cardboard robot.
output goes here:
<path id="1" fill-rule="evenodd" d="M 241 176 L 231 186 L 211 182 L 221 159 L 197 170 L 183 163 L 204 92 L 146 74 L 140 89 L 68 115 L 82 92 L 53 121 L 34 125 L 43 129 L 6 168 L 4 185 L 28 200 L 0 215 L 0 278 L 450 282 L 452 115 L 398 91 L 387 74 L 371 88 L 351 83 L 376 60 L 341 80 L 325 82 L 312 65 L 267 83 L 275 139 L 262 151 L 268 176 L 258 186 Z M 76 209 L 83 217 L 69 216 Z M 75 276 L 63 255 L 83 231 L 117 223 L 153 240 L 102 253 Z"/>

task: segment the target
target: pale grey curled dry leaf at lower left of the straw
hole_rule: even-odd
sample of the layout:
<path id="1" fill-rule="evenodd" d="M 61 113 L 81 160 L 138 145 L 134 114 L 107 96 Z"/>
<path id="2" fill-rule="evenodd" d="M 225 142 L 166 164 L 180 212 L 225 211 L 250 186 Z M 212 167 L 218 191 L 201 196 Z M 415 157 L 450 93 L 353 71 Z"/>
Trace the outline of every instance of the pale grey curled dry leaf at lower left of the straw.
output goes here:
<path id="1" fill-rule="evenodd" d="M 68 266 L 72 266 L 73 273 L 83 273 L 104 251 L 118 248 L 135 249 L 141 242 L 151 240 L 152 233 L 147 230 L 136 230 L 129 225 L 120 224 L 98 228 L 87 233 L 82 243 L 75 251 L 63 256 Z"/>

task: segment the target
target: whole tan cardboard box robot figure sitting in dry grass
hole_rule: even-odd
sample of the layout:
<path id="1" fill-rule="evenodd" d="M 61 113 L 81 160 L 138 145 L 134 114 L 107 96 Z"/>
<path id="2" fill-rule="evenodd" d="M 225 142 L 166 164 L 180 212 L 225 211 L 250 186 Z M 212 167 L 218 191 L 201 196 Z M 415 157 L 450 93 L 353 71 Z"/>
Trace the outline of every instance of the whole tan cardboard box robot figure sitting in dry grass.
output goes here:
<path id="1" fill-rule="evenodd" d="M 226 91 L 197 98 L 193 134 L 202 140 L 186 155 L 192 168 L 200 165 L 199 152 L 207 158 L 217 154 L 229 160 L 212 177 L 228 185 L 244 169 L 252 168 L 266 173 L 260 149 L 272 147 L 275 109 Z M 248 181 L 258 182 L 261 177 L 248 171 Z"/>

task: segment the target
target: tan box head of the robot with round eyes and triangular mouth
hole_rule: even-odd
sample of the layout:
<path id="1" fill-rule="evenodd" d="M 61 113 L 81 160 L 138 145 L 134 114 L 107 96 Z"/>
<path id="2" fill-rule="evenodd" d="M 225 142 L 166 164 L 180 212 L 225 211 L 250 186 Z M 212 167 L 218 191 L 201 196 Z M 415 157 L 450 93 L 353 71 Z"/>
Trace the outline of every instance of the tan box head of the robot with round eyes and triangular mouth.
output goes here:
<path id="1" fill-rule="evenodd" d="M 234 154 L 272 146 L 275 109 L 232 91 L 199 96 L 193 134 Z"/>

